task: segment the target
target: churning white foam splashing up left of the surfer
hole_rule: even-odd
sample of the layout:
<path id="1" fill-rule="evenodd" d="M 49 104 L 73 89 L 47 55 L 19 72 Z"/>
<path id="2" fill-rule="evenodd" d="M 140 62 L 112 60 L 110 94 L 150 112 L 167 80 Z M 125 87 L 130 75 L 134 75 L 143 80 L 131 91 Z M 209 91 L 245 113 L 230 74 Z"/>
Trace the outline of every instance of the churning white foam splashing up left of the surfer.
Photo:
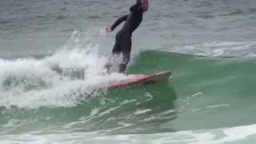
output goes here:
<path id="1" fill-rule="evenodd" d="M 0 106 L 76 106 L 101 94 L 124 74 L 106 74 L 98 45 L 80 42 L 74 32 L 63 49 L 42 58 L 0 59 Z"/>

